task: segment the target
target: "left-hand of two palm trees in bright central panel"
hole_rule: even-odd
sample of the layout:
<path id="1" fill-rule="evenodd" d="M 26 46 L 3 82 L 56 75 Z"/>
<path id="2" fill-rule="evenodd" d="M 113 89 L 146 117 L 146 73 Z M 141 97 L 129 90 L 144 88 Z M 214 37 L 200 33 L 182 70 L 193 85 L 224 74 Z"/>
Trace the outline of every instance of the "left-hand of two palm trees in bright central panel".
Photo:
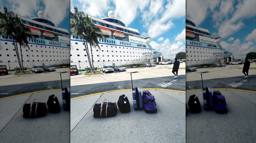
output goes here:
<path id="1" fill-rule="evenodd" d="M 90 54 L 88 51 L 88 45 L 87 42 L 85 43 L 86 38 L 88 37 L 88 33 L 86 32 L 86 24 L 85 24 L 85 14 L 83 11 L 78 11 L 77 7 L 74 6 L 74 11 L 70 13 L 70 33 L 71 35 L 74 34 L 75 38 L 83 39 L 85 51 L 87 54 L 88 62 L 91 68 L 91 71 L 93 70 L 91 65 L 91 59 Z M 87 45 L 87 46 L 86 46 Z"/>

